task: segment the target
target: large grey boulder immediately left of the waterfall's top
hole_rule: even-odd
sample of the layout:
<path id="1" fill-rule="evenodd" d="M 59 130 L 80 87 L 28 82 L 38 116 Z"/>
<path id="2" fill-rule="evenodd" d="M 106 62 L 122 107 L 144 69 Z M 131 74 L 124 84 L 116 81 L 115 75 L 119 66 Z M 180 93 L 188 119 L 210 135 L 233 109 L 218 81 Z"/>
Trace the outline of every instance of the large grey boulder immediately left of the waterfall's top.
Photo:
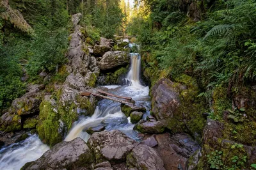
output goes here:
<path id="1" fill-rule="evenodd" d="M 100 70 L 109 70 L 118 66 L 128 65 L 130 56 L 124 51 L 109 51 L 106 52 L 99 62 Z"/>

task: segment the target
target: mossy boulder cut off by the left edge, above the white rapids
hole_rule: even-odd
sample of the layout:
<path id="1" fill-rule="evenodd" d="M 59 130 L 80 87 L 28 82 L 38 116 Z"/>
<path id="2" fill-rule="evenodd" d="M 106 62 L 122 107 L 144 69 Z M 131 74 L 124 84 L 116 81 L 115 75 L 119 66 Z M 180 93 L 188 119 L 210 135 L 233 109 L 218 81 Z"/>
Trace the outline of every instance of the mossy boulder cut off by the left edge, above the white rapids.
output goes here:
<path id="1" fill-rule="evenodd" d="M 21 117 L 17 114 L 10 114 L 6 112 L 0 118 L 0 130 L 4 132 L 12 132 L 15 130 L 21 130 Z"/>

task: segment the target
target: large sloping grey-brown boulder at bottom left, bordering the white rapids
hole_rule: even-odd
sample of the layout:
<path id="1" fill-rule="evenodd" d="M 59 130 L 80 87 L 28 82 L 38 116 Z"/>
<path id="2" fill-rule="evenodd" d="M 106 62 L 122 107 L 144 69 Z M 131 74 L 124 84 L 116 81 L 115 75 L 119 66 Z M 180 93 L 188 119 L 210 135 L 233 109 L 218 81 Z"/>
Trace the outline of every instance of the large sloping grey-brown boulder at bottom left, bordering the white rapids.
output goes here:
<path id="1" fill-rule="evenodd" d="M 42 157 L 28 162 L 21 169 L 84 169 L 94 162 L 91 150 L 81 138 L 56 144 Z"/>

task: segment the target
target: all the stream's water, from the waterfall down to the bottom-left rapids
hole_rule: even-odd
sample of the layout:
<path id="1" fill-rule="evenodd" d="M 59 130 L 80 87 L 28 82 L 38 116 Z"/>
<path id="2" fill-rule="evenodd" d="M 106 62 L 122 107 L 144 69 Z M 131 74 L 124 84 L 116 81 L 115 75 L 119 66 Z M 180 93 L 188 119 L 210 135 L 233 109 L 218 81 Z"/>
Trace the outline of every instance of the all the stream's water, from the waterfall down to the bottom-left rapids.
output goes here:
<path id="1" fill-rule="evenodd" d="M 129 44 L 129 47 L 134 44 Z M 104 91 L 115 95 L 132 97 L 137 105 L 150 108 L 150 98 L 148 97 L 148 87 L 140 84 L 140 54 L 130 53 L 131 69 L 127 74 L 126 80 L 129 86 L 104 86 Z M 149 112 L 144 114 L 143 118 Z M 133 139 L 137 139 L 137 132 L 133 130 L 134 124 L 129 121 L 124 113 L 122 113 L 120 104 L 111 100 L 100 100 L 91 117 L 80 118 L 79 121 L 72 125 L 65 141 L 71 141 L 76 137 L 81 137 L 84 141 L 88 141 L 90 135 L 84 130 L 88 127 L 96 127 L 102 125 L 106 130 L 118 129 Z M 0 169 L 16 170 L 24 166 L 26 162 L 31 162 L 41 157 L 49 147 L 43 144 L 37 135 L 31 135 L 25 141 L 6 146 L 0 150 Z"/>

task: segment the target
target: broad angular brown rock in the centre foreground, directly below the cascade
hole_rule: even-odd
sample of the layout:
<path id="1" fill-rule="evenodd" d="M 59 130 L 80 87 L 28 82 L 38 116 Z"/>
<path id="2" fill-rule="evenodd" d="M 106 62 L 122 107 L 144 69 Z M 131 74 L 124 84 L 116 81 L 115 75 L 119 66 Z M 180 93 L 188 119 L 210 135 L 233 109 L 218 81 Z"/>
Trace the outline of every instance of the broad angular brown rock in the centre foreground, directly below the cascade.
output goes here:
<path id="1" fill-rule="evenodd" d="M 133 139 L 119 130 L 96 132 L 88 140 L 89 148 L 95 153 L 96 162 L 122 162 L 134 148 Z"/>

